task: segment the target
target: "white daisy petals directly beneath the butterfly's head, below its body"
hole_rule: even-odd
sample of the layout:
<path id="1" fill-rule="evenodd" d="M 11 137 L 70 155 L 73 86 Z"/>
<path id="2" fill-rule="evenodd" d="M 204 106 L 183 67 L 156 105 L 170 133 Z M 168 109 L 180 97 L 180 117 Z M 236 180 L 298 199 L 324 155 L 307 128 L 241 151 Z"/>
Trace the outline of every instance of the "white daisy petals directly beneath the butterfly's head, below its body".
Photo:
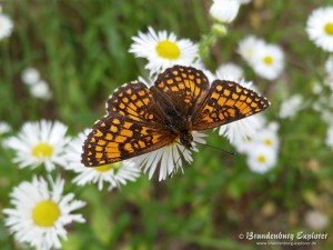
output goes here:
<path id="1" fill-rule="evenodd" d="M 195 142 L 204 144 L 205 140 L 203 139 L 206 134 L 192 131 L 193 137 L 193 151 L 198 151 L 195 148 Z M 135 167 L 143 169 L 144 172 L 149 171 L 149 179 L 152 178 L 154 171 L 157 171 L 157 167 L 160 163 L 160 176 L 159 180 L 165 180 L 169 176 L 176 172 L 179 169 L 182 170 L 182 159 L 191 162 L 192 156 L 191 151 L 184 148 L 179 141 L 174 141 L 173 143 L 154 150 L 149 153 L 144 153 L 142 156 L 133 158 L 133 162 Z"/>

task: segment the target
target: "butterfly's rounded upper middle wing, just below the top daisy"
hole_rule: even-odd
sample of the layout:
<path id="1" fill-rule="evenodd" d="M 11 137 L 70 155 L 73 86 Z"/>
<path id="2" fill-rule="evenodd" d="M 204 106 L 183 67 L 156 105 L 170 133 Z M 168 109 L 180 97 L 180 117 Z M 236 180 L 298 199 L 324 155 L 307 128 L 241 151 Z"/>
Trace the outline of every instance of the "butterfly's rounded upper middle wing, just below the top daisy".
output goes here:
<path id="1" fill-rule="evenodd" d="M 163 102 L 172 103 L 178 117 L 186 117 L 204 100 L 209 80 L 201 70 L 174 66 L 159 74 L 154 88 L 164 97 Z"/>

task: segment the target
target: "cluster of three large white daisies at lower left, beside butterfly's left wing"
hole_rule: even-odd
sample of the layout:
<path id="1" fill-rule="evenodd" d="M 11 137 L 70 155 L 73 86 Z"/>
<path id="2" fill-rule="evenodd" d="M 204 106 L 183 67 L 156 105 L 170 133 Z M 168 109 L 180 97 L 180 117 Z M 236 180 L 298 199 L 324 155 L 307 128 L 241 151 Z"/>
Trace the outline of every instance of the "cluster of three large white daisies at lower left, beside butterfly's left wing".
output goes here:
<path id="1" fill-rule="evenodd" d="M 9 126 L 3 123 L 2 127 L 7 132 Z M 88 130 L 77 138 L 68 137 L 67 130 L 68 127 L 59 121 L 27 122 L 17 136 L 4 138 L 2 144 L 14 151 L 13 163 L 20 168 L 44 166 L 51 173 L 62 167 L 75 172 L 72 182 L 78 186 L 97 183 L 101 190 L 103 183 L 108 183 L 111 190 L 140 176 L 132 162 L 85 168 L 81 163 L 81 150 Z M 67 239 L 64 226 L 84 222 L 81 214 L 72 213 L 84 202 L 74 200 L 73 193 L 62 194 L 64 180 L 49 178 L 49 183 L 51 190 L 42 177 L 36 176 L 31 182 L 21 182 L 10 194 L 13 208 L 3 210 L 4 223 L 14 238 L 38 250 L 61 248 L 60 239 Z"/>

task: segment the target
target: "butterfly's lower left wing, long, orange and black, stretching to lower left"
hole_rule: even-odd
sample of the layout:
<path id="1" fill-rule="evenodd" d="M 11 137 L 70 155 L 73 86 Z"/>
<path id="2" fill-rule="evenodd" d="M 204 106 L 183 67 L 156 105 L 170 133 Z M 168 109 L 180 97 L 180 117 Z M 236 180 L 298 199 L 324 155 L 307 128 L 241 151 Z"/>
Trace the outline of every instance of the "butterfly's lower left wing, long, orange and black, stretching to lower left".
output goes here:
<path id="1" fill-rule="evenodd" d="M 83 144 L 82 163 L 98 167 L 159 149 L 174 140 L 165 130 L 109 113 L 92 128 Z"/>

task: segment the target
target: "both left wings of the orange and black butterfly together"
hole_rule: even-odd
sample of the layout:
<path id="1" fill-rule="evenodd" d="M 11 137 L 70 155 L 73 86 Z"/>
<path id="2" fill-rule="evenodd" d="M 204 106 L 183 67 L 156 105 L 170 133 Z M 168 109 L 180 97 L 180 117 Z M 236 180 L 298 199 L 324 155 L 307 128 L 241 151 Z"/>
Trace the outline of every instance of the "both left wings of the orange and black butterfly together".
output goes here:
<path id="1" fill-rule="evenodd" d="M 83 144 L 82 163 L 97 167 L 137 157 L 171 143 L 150 90 L 128 83 L 109 98 L 108 114 L 92 128 Z"/>

